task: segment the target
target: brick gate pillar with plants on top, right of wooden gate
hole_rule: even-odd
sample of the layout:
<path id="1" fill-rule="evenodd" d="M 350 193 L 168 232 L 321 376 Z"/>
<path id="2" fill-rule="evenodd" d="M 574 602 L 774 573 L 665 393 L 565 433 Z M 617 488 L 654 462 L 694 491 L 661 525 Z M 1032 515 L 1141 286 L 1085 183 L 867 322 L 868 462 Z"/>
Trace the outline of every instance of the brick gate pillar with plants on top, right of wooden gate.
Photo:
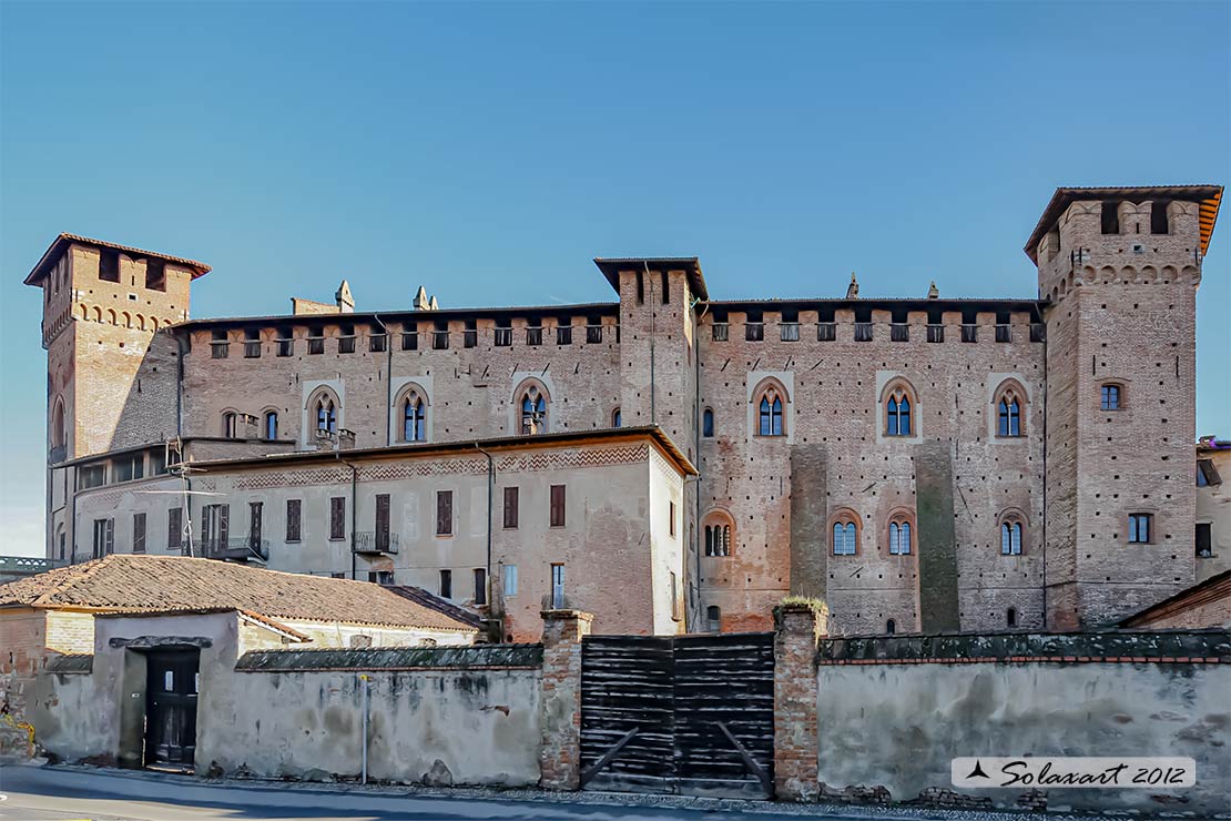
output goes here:
<path id="1" fill-rule="evenodd" d="M 774 795 L 783 801 L 815 801 L 820 791 L 816 639 L 827 618 L 821 602 L 793 602 L 774 611 L 773 778 Z"/>

